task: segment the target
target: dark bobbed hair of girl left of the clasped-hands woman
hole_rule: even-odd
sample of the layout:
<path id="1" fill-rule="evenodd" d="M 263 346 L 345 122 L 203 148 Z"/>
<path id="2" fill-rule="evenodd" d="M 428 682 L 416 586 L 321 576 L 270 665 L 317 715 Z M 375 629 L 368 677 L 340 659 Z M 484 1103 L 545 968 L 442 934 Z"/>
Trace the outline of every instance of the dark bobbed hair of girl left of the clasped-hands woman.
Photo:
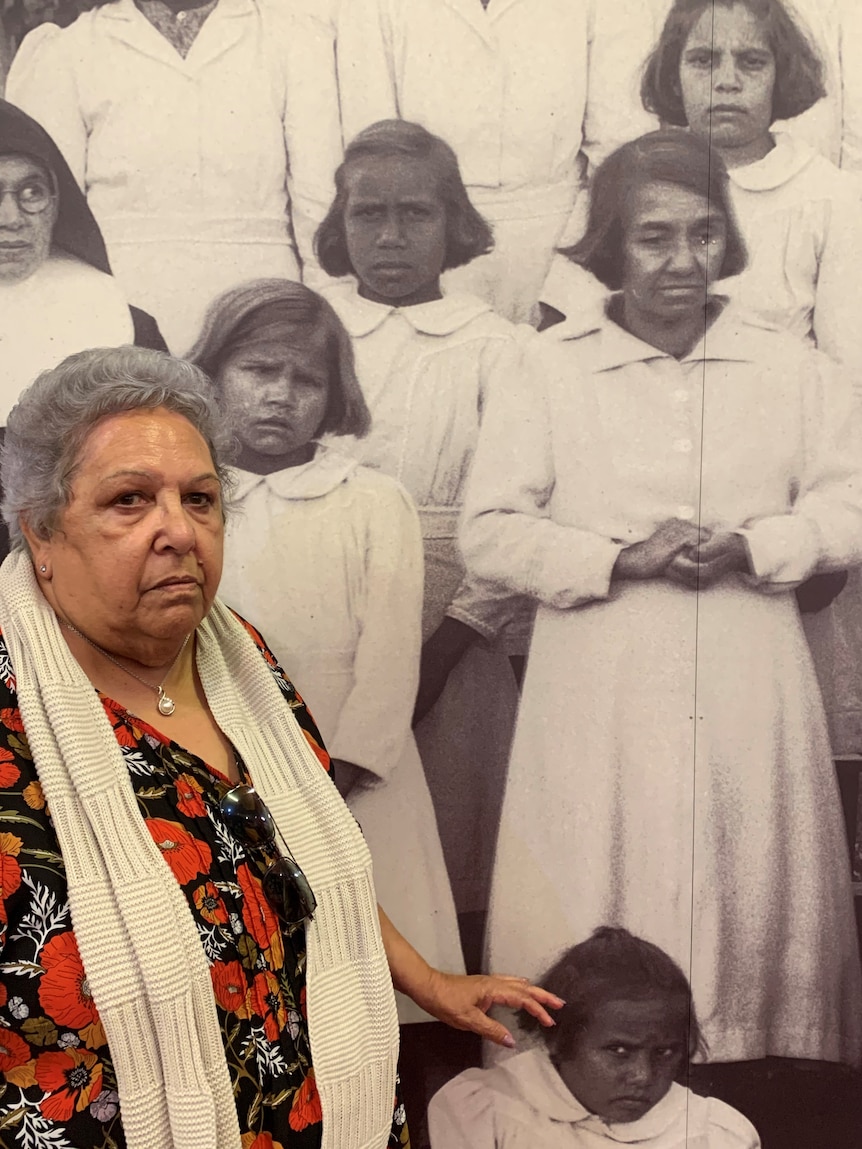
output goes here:
<path id="1" fill-rule="evenodd" d="M 470 202 L 457 156 L 449 145 L 420 124 L 406 119 L 382 119 L 365 128 L 348 144 L 344 162 L 336 171 L 336 198 L 314 240 L 321 267 L 329 275 L 355 275 L 345 233 L 348 175 L 352 164 L 369 156 L 410 156 L 428 160 L 437 169 L 437 186 L 446 208 L 444 271 L 461 268 L 494 246 L 491 225 Z"/>

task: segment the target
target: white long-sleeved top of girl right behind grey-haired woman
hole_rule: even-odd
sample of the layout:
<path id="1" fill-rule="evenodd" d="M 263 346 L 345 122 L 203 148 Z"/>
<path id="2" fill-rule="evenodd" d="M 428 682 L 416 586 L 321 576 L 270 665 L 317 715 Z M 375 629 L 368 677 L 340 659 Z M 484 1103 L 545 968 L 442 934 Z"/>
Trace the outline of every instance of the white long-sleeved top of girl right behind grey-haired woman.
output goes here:
<path id="1" fill-rule="evenodd" d="M 413 737 L 416 511 L 398 483 L 325 447 L 305 466 L 237 473 L 218 593 L 265 625 L 329 753 L 386 778 Z M 279 570 L 290 573 L 279 580 Z"/>

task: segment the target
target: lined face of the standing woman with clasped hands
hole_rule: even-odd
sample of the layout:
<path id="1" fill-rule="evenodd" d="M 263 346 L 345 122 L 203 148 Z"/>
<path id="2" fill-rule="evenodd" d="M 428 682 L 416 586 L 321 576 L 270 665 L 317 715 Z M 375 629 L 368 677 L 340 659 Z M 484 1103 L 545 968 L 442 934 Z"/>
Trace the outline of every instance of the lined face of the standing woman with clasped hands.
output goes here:
<path id="1" fill-rule="evenodd" d="M 726 221 L 705 195 L 679 184 L 638 187 L 623 239 L 623 299 L 642 322 L 701 313 L 726 247 Z"/>

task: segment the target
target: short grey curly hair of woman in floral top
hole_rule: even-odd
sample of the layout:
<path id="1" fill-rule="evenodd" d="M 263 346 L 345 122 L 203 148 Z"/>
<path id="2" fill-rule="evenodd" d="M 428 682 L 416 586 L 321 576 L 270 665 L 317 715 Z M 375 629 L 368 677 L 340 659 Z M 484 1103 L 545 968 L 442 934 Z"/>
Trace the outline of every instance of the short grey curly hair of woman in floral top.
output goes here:
<path id="1" fill-rule="evenodd" d="M 94 348 L 43 371 L 9 414 L 0 453 L 0 511 L 11 548 L 26 549 L 22 517 L 39 538 L 56 527 L 69 503 L 82 448 L 100 419 L 157 407 L 188 419 L 205 439 L 222 486 L 222 504 L 229 506 L 232 442 L 207 376 L 164 352 Z"/>

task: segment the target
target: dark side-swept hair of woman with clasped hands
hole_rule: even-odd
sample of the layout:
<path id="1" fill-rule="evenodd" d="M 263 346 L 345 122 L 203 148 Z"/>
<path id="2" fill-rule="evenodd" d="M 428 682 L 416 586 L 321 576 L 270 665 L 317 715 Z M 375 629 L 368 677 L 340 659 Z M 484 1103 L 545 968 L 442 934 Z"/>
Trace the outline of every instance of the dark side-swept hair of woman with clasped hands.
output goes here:
<path id="1" fill-rule="evenodd" d="M 623 286 L 623 240 L 634 193 L 647 184 L 677 184 L 702 195 L 724 216 L 725 250 L 717 279 L 739 275 L 746 249 L 730 201 L 728 170 L 709 144 L 691 132 L 669 129 L 623 144 L 599 167 L 590 193 L 584 236 L 561 248 L 609 287 Z"/>

